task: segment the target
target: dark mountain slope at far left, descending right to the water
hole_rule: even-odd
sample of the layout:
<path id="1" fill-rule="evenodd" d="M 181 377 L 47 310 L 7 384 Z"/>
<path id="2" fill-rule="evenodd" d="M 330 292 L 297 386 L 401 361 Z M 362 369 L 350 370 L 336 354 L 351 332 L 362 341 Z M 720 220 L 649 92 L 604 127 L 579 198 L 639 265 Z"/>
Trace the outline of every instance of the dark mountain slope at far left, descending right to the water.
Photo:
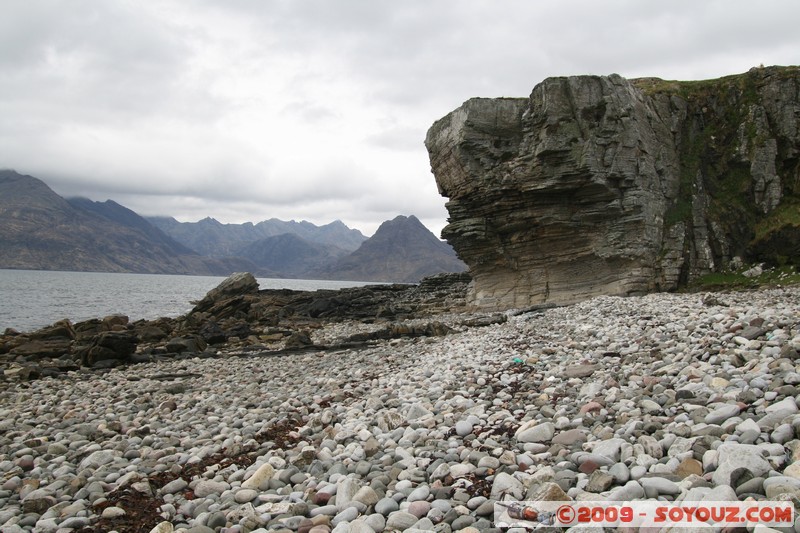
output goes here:
<path id="1" fill-rule="evenodd" d="M 202 257 L 114 202 L 63 199 L 0 170 L 0 268 L 227 275 L 252 263 Z"/>

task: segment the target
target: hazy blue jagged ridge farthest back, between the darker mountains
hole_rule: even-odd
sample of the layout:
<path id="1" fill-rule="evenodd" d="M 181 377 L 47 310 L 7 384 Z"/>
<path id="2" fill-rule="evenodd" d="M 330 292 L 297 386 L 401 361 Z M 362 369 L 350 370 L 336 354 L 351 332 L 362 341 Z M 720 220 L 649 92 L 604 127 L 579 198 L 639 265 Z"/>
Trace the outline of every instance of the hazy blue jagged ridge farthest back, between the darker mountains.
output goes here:
<path id="1" fill-rule="evenodd" d="M 360 231 L 348 228 L 339 220 L 324 226 L 305 220 L 286 222 L 276 218 L 258 224 L 223 224 L 210 217 L 198 222 L 178 222 L 171 217 L 150 217 L 147 220 L 184 246 L 209 257 L 239 255 L 241 250 L 248 249 L 257 241 L 285 234 L 296 235 L 312 244 L 332 245 L 345 252 L 356 250 L 367 239 Z M 258 248 L 252 250 L 258 254 Z"/>

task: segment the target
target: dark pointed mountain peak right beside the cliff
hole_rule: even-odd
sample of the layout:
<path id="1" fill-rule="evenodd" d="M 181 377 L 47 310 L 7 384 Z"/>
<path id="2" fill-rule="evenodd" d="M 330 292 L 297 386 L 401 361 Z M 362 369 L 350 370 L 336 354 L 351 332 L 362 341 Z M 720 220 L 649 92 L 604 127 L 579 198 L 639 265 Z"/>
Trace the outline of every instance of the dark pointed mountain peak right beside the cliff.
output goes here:
<path id="1" fill-rule="evenodd" d="M 466 269 L 450 245 L 437 239 L 417 217 L 398 216 L 381 224 L 358 250 L 318 274 L 331 279 L 415 283 L 432 274 Z"/>

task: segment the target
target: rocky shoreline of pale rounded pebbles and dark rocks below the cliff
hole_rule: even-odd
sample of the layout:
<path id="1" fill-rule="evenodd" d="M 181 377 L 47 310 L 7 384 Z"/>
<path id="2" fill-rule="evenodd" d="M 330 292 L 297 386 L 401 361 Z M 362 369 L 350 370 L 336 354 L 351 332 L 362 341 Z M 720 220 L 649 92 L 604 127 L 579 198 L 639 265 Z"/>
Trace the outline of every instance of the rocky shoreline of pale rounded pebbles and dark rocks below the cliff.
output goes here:
<path id="1" fill-rule="evenodd" d="M 128 360 L 92 340 L 78 368 L 6 374 L 2 531 L 474 532 L 499 531 L 499 500 L 798 502 L 800 287 L 474 315 L 453 281 L 359 306 L 244 280 L 169 338 L 91 337 L 135 332 Z M 348 305 L 364 316 L 326 316 Z"/>

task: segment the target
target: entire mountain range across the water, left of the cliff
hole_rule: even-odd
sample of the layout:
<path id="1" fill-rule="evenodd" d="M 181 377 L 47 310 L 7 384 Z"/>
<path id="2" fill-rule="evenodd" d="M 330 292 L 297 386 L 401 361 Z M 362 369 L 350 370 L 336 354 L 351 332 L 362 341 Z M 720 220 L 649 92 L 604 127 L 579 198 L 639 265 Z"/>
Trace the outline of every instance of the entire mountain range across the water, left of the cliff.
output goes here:
<path id="1" fill-rule="evenodd" d="M 414 216 L 384 222 L 369 239 L 338 220 L 179 222 L 112 200 L 65 199 L 0 170 L 0 268 L 416 282 L 466 266 Z"/>

